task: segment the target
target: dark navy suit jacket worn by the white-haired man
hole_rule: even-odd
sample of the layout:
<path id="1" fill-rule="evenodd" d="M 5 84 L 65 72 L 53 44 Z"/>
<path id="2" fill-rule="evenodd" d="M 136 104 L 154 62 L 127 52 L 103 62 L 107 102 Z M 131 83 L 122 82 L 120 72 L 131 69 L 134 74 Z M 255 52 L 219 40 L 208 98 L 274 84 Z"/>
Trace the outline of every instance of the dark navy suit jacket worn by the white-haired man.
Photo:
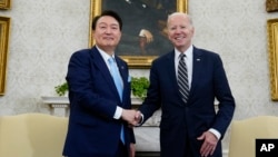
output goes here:
<path id="1" fill-rule="evenodd" d="M 232 119 L 235 100 L 220 57 L 193 47 L 192 66 L 191 89 L 185 104 L 178 90 L 173 50 L 152 62 L 150 88 L 139 109 L 147 120 L 161 107 L 161 157 L 183 157 L 189 149 L 190 157 L 199 157 L 202 141 L 197 137 L 215 128 L 222 138 Z M 219 101 L 218 112 L 215 111 L 215 98 Z M 221 141 L 215 157 L 221 157 Z"/>

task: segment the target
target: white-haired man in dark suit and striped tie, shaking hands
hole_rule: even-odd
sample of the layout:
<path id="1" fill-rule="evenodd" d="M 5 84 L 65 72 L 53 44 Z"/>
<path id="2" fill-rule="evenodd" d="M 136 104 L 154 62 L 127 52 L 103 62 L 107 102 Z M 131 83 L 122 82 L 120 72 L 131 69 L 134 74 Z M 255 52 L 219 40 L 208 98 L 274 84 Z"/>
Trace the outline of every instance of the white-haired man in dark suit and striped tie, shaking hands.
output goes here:
<path id="1" fill-rule="evenodd" d="M 161 157 L 221 157 L 221 139 L 236 106 L 222 61 L 219 55 L 192 46 L 188 14 L 170 14 L 167 29 L 175 49 L 152 62 L 150 87 L 137 118 L 145 122 L 161 108 Z M 187 67 L 183 79 L 179 79 L 179 61 Z M 186 92 L 179 86 L 183 80 Z"/>

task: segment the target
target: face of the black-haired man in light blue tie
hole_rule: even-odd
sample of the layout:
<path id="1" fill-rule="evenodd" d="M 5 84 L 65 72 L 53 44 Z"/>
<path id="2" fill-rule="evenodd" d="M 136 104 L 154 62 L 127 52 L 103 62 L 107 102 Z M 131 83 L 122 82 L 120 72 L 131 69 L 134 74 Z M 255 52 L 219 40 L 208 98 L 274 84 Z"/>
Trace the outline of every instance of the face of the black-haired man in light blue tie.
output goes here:
<path id="1" fill-rule="evenodd" d="M 93 37 L 100 49 L 106 52 L 115 51 L 121 37 L 119 22 L 109 16 L 99 18 Z"/>

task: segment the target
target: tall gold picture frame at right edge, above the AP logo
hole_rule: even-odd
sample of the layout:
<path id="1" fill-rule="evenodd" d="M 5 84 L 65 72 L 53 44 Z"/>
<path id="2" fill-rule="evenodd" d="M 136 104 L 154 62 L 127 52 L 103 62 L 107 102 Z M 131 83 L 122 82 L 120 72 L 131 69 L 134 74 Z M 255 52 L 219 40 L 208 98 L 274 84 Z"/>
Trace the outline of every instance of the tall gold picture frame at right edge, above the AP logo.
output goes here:
<path id="1" fill-rule="evenodd" d="M 278 101 L 278 19 L 267 20 L 271 100 Z"/>

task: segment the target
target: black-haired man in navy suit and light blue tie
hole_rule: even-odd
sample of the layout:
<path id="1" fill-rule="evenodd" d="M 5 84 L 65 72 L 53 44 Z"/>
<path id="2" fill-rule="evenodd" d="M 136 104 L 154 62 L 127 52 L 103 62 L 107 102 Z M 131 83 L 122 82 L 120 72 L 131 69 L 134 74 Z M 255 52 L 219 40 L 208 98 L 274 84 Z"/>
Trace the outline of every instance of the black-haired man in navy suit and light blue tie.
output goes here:
<path id="1" fill-rule="evenodd" d="M 96 46 L 77 51 L 70 58 L 66 77 L 70 116 L 64 156 L 135 156 L 135 135 L 128 127 L 136 114 L 129 110 L 130 77 L 127 62 L 115 55 L 121 28 L 122 21 L 116 12 L 103 11 L 92 21 Z M 110 59 L 117 67 L 110 67 Z M 111 73 L 113 68 L 120 76 L 118 82 Z"/>

